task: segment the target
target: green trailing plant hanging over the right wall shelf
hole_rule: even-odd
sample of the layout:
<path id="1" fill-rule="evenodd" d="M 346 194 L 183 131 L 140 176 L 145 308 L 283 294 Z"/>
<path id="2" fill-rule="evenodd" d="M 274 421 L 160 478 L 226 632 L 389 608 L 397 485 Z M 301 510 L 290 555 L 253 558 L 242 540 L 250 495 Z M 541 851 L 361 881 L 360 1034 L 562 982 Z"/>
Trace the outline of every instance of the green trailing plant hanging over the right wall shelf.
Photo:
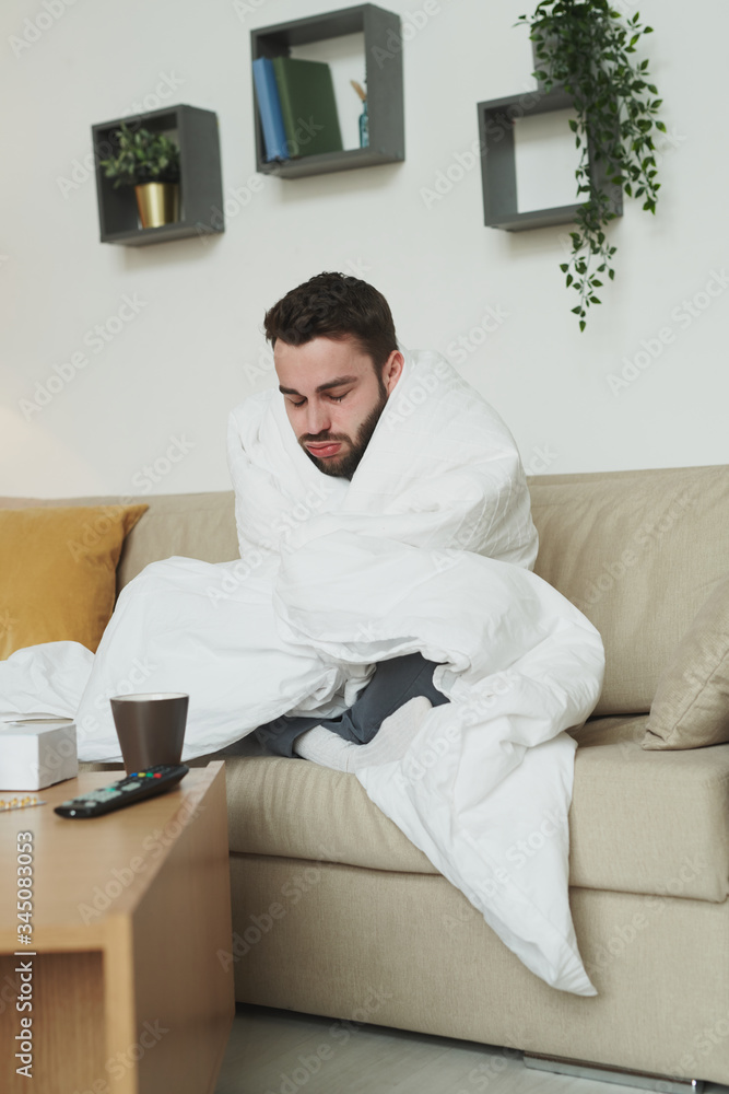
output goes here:
<path id="1" fill-rule="evenodd" d="M 609 184 L 620 186 L 627 197 L 643 198 L 643 208 L 656 212 L 660 183 L 654 133 L 666 132 L 656 117 L 662 100 L 649 82 L 648 61 L 636 62 L 633 57 L 642 35 L 652 33 L 652 27 L 640 23 L 639 12 L 623 20 L 609 0 L 542 0 L 532 15 L 520 15 L 518 23 L 530 27 L 533 74 L 543 90 L 564 86 L 577 115 L 569 126 L 580 151 L 577 195 L 586 198 L 571 232 L 569 260 L 561 269 L 567 288 L 579 296 L 573 312 L 584 330 L 588 309 L 601 303 L 600 275 L 610 280 L 615 276 L 616 248 L 605 233 L 615 218 Z"/>

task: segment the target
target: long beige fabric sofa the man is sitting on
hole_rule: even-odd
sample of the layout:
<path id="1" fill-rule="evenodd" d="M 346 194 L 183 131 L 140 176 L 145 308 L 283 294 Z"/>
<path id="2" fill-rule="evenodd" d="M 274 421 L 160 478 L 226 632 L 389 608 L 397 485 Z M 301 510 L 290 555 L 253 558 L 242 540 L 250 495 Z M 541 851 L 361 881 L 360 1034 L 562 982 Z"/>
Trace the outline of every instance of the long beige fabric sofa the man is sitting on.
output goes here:
<path id="1" fill-rule="evenodd" d="M 529 973 L 353 776 L 252 746 L 226 757 L 235 933 L 221 959 L 242 1001 L 729 1083 L 729 745 L 642 747 L 661 676 L 729 571 L 729 467 L 530 489 L 537 572 L 607 651 L 596 717 L 575 731 L 569 814 L 572 909 L 599 994 Z M 150 510 L 120 585 L 169 555 L 237 557 L 232 493 L 133 500 Z"/>

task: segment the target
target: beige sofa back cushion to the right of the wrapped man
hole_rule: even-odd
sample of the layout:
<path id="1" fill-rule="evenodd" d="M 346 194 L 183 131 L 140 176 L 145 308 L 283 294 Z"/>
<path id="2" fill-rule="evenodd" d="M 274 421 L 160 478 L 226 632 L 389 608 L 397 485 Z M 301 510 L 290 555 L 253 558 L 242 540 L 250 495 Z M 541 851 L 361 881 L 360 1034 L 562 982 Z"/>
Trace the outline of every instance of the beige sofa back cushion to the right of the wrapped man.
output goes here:
<path id="1" fill-rule="evenodd" d="M 536 572 L 605 647 L 597 714 L 648 712 L 661 673 L 726 575 L 729 467 L 530 479 Z"/>

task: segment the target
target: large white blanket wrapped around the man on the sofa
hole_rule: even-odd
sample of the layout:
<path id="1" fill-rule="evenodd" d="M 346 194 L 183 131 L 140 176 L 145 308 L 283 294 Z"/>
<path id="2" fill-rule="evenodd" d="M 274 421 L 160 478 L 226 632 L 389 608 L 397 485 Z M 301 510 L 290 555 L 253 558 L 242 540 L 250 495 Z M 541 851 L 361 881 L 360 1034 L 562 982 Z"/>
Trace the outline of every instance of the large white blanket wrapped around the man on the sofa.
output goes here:
<path id="1" fill-rule="evenodd" d="M 595 994 L 567 901 L 575 742 L 599 635 L 530 568 L 514 441 L 437 354 L 405 353 L 348 482 L 298 445 L 275 391 L 231 416 L 240 559 L 173 558 L 121 593 L 95 657 L 75 643 L 0 665 L 0 710 L 77 719 L 82 759 L 120 759 L 108 697 L 185 690 L 184 758 L 282 713 L 341 713 L 378 661 L 421 651 L 451 700 L 369 798 L 555 988 Z"/>

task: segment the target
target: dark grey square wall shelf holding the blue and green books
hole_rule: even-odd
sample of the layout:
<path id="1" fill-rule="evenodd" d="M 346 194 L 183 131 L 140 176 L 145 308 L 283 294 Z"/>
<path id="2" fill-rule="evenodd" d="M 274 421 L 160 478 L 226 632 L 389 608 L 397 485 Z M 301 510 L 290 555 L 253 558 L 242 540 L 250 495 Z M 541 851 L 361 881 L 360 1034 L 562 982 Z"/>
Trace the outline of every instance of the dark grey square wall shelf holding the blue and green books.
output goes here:
<path id="1" fill-rule="evenodd" d="M 256 170 L 281 178 L 322 175 L 353 167 L 396 163 L 405 158 L 402 102 L 402 34 L 400 16 L 372 3 L 279 23 L 250 32 L 251 60 L 289 57 L 292 46 L 308 45 L 344 34 L 364 33 L 369 147 L 321 152 L 297 159 L 267 162 L 263 132 L 255 105 Z M 251 75 L 252 79 L 252 75 Z"/>

